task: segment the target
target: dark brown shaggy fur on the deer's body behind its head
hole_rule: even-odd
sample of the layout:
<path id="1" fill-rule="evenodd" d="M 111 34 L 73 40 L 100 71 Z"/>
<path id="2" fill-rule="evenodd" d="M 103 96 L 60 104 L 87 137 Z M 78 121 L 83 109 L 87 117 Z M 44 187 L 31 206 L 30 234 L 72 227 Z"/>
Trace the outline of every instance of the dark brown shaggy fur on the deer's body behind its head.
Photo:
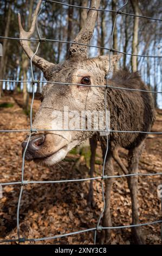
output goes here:
<path id="1" fill-rule="evenodd" d="M 119 70 L 108 82 L 114 87 L 147 90 L 138 72 Z M 150 93 L 113 88 L 107 89 L 107 91 L 107 109 L 111 112 L 111 130 L 151 130 L 155 114 Z M 146 136 L 146 133 L 112 132 L 109 137 L 109 146 L 112 151 L 116 147 L 134 148 Z"/>

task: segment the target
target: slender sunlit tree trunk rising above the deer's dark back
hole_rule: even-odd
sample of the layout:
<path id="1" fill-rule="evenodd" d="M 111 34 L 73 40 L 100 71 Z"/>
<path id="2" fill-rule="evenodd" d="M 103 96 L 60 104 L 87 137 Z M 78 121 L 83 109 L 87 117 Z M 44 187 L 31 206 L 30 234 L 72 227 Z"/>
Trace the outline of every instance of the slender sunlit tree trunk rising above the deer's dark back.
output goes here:
<path id="1" fill-rule="evenodd" d="M 133 11 L 135 15 L 139 15 L 139 6 L 138 0 L 131 0 Z M 133 54 L 138 54 L 138 29 L 139 29 L 139 17 L 134 17 L 133 25 L 133 41 L 132 41 L 132 52 Z M 138 61 L 137 56 L 132 56 L 132 71 L 135 72 L 138 70 Z"/>

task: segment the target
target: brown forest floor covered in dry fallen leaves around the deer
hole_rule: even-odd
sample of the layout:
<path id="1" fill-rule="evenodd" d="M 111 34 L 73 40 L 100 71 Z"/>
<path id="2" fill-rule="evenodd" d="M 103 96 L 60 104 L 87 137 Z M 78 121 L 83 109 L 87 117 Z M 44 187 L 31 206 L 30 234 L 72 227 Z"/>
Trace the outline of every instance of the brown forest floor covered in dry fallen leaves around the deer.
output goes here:
<path id="1" fill-rule="evenodd" d="M 2 103 L 5 103 L 2 105 Z M 10 104 L 9 104 L 10 103 Z M 21 108 L 22 95 L 4 96 L 0 100 L 0 130 L 28 129 L 29 117 Z M 8 107 L 7 107 L 8 106 Z M 34 111 L 39 106 L 34 102 Z M 152 131 L 162 130 L 162 110 L 157 109 L 157 118 Z M 1 133 L 0 136 L 0 182 L 21 180 L 22 149 L 21 142 L 25 133 Z M 162 136 L 150 135 L 139 163 L 140 173 L 158 173 L 162 170 Z M 122 161 L 127 164 L 127 151 L 120 150 Z M 78 154 L 72 150 L 66 159 L 53 168 L 36 166 L 34 162 L 25 162 L 24 180 L 63 180 L 88 178 L 87 154 Z M 115 174 L 119 167 L 114 163 Z M 102 173 L 101 148 L 96 153 L 95 176 Z M 157 186 L 161 176 L 139 176 L 139 216 L 140 223 L 160 220 L 160 198 Z M 103 200 L 101 180 L 95 180 L 94 207 L 87 206 L 89 181 L 63 182 L 59 184 L 28 184 L 24 187 L 20 208 L 20 234 L 29 239 L 54 236 L 96 227 Z M 0 240 L 17 238 L 16 212 L 20 185 L 4 186 L 0 199 Z M 113 226 L 131 224 L 131 200 L 126 178 L 116 178 L 111 195 L 111 214 Z M 159 244 L 160 224 L 142 227 L 148 244 Z M 55 244 L 92 244 L 92 231 L 61 239 L 39 241 L 37 243 Z M 113 229 L 112 244 L 131 244 L 131 229 Z M 35 242 L 25 242 L 35 243 Z"/>

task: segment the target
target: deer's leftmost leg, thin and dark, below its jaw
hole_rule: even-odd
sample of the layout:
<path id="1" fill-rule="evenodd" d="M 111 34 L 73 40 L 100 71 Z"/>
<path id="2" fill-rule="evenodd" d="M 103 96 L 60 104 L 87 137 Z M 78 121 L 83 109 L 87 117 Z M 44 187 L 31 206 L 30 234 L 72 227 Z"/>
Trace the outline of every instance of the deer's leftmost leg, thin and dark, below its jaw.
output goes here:
<path id="1" fill-rule="evenodd" d="M 93 173 L 95 171 L 95 154 L 96 154 L 96 148 L 97 148 L 97 138 L 96 136 L 92 137 L 89 139 L 90 143 L 90 178 L 93 178 Z M 89 184 L 89 192 L 88 192 L 88 197 L 87 197 L 87 205 L 88 206 L 94 206 L 94 201 L 93 201 L 93 180 L 90 180 Z"/>

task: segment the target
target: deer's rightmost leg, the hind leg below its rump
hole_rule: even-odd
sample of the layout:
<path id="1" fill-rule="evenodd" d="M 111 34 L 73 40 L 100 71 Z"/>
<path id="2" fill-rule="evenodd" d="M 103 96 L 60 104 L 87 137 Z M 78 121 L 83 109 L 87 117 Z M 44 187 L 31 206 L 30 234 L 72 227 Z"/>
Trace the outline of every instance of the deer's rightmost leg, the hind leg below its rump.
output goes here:
<path id="1" fill-rule="evenodd" d="M 129 150 L 128 153 L 128 171 L 129 174 L 138 173 L 139 157 L 141 155 L 144 142 L 139 147 Z M 138 176 L 128 176 L 128 186 L 131 193 L 132 201 L 132 224 L 139 224 L 138 213 Z M 132 237 L 135 243 L 144 244 L 145 240 L 142 237 L 141 227 L 132 228 Z"/>

